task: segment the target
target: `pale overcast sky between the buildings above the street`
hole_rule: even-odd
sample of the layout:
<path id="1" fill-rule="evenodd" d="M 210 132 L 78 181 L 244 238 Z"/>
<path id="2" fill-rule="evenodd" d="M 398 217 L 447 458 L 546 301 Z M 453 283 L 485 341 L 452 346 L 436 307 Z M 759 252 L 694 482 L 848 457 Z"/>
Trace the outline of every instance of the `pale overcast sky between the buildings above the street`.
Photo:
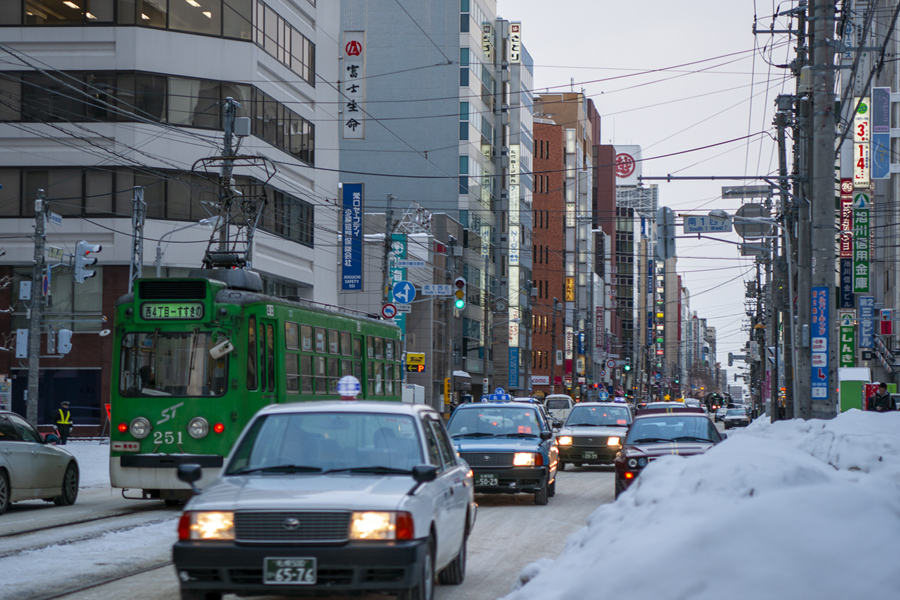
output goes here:
<path id="1" fill-rule="evenodd" d="M 791 93 L 794 84 L 774 65 L 789 62 L 790 45 L 784 35 L 754 36 L 752 29 L 756 13 L 758 28 L 767 30 L 778 6 L 791 5 L 499 0 L 497 10 L 504 19 L 522 22 L 536 94 L 568 90 L 574 78 L 574 89 L 592 98 L 601 115 L 601 142 L 643 148 L 644 176 L 723 177 L 777 170 L 774 100 Z M 787 23 L 781 18 L 776 29 Z M 723 143 L 729 140 L 737 141 Z M 705 146 L 712 147 L 696 150 Z M 660 204 L 679 215 L 713 208 L 733 213 L 741 201 L 722 200 L 722 186 L 764 182 L 656 183 Z M 741 259 L 735 245 L 696 238 L 679 238 L 677 255 L 691 309 L 716 328 L 718 361 L 728 368 L 728 352 L 740 350 L 747 339 L 743 281 L 755 277 L 753 262 Z M 729 369 L 729 381 L 734 371 Z"/>

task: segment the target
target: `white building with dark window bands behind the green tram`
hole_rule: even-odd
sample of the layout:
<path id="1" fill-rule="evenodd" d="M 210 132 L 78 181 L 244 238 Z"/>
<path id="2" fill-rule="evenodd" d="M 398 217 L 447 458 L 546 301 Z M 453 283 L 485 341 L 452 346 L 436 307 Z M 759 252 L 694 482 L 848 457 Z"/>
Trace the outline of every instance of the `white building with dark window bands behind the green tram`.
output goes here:
<path id="1" fill-rule="evenodd" d="M 0 25 L 0 272 L 16 282 L 0 291 L 13 310 L 0 316 L 3 345 L 27 327 L 18 282 L 31 279 L 38 190 L 61 217 L 47 225 L 48 246 L 69 255 L 79 240 L 103 247 L 83 284 L 68 259 L 49 261 L 63 266 L 52 271 L 47 323 L 71 328 L 75 349 L 42 362 L 40 422 L 62 397 L 78 425 L 101 422 L 115 349 L 97 333 L 128 290 L 135 187 L 146 203 L 144 275 L 157 247 L 163 275 L 201 265 L 209 231 L 192 225 L 217 214 L 222 188 L 218 171 L 197 161 L 223 152 L 228 97 L 249 117 L 239 154 L 274 167 L 239 163 L 229 182 L 267 200 L 252 267 L 269 292 L 337 302 L 336 4 L 15 0 L 3 3 Z M 25 371 L 12 356 L 0 355 L 0 373 L 23 412 Z"/>

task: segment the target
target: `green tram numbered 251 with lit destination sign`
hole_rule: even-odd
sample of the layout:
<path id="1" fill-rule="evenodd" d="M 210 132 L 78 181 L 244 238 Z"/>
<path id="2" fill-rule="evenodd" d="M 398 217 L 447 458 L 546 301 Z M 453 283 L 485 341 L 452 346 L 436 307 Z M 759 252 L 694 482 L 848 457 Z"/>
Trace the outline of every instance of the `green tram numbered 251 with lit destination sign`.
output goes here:
<path id="1" fill-rule="evenodd" d="M 200 464 L 208 483 L 257 410 L 336 400 L 343 375 L 362 398 L 400 401 L 396 325 L 261 292 L 252 271 L 195 270 L 117 301 L 109 474 L 123 495 L 188 498 L 178 465 Z"/>

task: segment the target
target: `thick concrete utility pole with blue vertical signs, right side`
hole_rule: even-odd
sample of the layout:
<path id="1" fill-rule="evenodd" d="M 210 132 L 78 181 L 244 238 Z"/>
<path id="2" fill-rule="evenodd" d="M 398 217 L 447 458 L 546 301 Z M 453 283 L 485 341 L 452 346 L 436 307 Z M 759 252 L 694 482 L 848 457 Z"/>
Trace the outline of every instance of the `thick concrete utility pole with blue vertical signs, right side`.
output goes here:
<path id="1" fill-rule="evenodd" d="M 834 115 L 834 0 L 812 1 L 812 62 L 813 62 L 813 102 L 810 125 L 812 128 L 812 172 L 810 183 L 810 210 L 812 232 L 812 265 L 811 292 L 818 291 L 824 295 L 828 319 L 824 331 L 817 331 L 817 326 L 810 323 L 811 338 L 825 337 L 827 340 L 828 366 L 817 369 L 825 375 L 817 375 L 817 383 L 824 387 L 813 387 L 811 394 L 803 394 L 805 402 L 801 405 L 800 417 L 803 419 L 830 419 L 837 414 L 837 402 L 832 389 L 837 384 L 837 352 L 838 346 L 837 313 L 834 300 L 834 197 L 835 197 L 835 115 Z M 800 297 L 800 303 L 811 304 L 812 296 Z M 823 335 L 824 333 L 824 335 Z M 812 376 L 812 373 L 810 373 Z M 809 398 L 810 400 L 806 401 Z"/>

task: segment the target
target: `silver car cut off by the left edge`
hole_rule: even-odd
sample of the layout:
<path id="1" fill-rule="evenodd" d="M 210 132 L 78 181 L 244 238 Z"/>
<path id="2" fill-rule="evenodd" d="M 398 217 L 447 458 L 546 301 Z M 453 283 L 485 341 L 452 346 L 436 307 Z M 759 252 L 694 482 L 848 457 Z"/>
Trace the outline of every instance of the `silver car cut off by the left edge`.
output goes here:
<path id="1" fill-rule="evenodd" d="M 14 412 L 0 411 L 0 514 L 11 502 L 47 500 L 74 504 L 78 498 L 78 461 L 44 441 L 37 428 Z"/>

